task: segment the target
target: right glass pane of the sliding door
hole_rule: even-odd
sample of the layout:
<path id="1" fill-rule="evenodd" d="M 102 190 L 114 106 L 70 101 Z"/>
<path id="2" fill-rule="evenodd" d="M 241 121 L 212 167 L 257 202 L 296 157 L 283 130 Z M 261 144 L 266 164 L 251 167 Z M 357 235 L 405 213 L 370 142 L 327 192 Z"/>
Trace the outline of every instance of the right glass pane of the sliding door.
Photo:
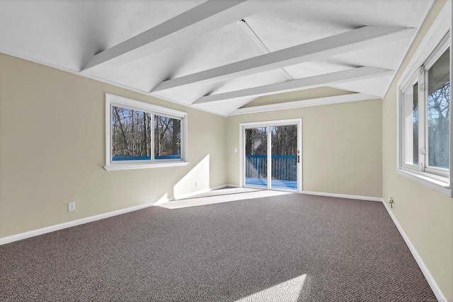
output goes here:
<path id="1" fill-rule="evenodd" d="M 270 127 L 271 187 L 297 190 L 297 125 Z"/>

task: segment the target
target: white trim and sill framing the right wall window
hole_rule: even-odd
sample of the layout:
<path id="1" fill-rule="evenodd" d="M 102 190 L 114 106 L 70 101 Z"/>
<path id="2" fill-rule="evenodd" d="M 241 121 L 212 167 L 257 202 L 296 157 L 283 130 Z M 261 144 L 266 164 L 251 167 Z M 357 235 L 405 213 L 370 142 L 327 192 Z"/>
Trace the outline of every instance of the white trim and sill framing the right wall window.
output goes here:
<path id="1" fill-rule="evenodd" d="M 445 194 L 449 197 L 453 197 L 453 121 L 450 118 L 450 134 L 449 134 L 449 170 L 447 177 L 435 175 L 428 172 L 414 170 L 410 165 L 406 165 L 403 162 L 403 119 L 401 113 L 403 110 L 403 98 L 402 91 L 408 83 L 413 79 L 413 75 L 417 72 L 417 69 L 423 65 L 432 65 L 432 54 L 435 52 L 440 42 L 449 35 L 452 28 L 452 4 L 451 1 L 447 1 L 445 6 L 440 11 L 434 23 L 428 33 L 420 43 L 418 50 L 413 55 L 411 62 L 408 67 L 403 71 L 400 80 L 398 81 L 398 101 L 397 101 L 397 121 L 398 121 L 398 132 L 397 132 L 397 168 L 396 172 L 406 178 L 409 178 L 421 185 L 430 187 L 432 190 Z M 452 77 L 452 38 L 449 39 L 450 47 L 450 79 Z M 452 100 L 450 100 L 450 106 Z M 435 168 L 427 168 L 426 170 L 437 170 Z"/>

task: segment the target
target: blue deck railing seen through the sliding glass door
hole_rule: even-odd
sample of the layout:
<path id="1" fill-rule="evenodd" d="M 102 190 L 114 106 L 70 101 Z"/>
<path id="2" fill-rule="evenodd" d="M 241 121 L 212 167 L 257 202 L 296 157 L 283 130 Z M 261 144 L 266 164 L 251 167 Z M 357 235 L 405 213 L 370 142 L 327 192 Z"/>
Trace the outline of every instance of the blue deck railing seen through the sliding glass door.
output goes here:
<path id="1" fill-rule="evenodd" d="M 273 155 L 271 161 L 273 179 L 297 181 L 297 156 Z M 268 156 L 246 155 L 246 178 L 267 178 Z"/>

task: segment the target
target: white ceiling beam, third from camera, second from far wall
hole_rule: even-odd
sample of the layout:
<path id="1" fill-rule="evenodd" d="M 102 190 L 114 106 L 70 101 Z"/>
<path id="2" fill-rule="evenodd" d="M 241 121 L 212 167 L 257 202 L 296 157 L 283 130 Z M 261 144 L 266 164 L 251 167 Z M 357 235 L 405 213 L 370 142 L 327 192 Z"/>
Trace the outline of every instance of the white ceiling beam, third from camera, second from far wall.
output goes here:
<path id="1" fill-rule="evenodd" d="M 331 86 L 338 83 L 347 83 L 350 81 L 358 81 L 370 79 L 377 76 L 387 76 L 394 74 L 394 70 L 382 69 L 377 67 L 358 67 L 345 71 L 336 71 L 331 74 L 321 74 L 320 76 L 311 76 L 309 78 L 297 79 L 293 81 L 285 81 L 281 83 L 273 83 L 265 86 L 241 89 L 239 91 L 230 91 L 226 93 L 217 93 L 213 95 L 205 95 L 196 100 L 193 105 L 210 103 L 236 98 L 258 98 L 262 95 L 270 95 L 275 93 L 284 93 L 289 91 L 297 91 L 302 89 L 317 88 L 322 86 Z"/>

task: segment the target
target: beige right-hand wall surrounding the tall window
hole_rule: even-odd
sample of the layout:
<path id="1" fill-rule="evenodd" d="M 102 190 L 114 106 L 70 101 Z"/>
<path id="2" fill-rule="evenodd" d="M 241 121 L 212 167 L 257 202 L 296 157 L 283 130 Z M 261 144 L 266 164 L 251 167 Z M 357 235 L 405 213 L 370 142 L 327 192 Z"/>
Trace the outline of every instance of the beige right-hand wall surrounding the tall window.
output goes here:
<path id="1" fill-rule="evenodd" d="M 420 41 L 430 28 L 445 1 L 437 1 L 413 47 L 398 70 L 383 102 L 383 190 L 388 202 L 394 197 L 391 209 L 415 250 L 440 287 L 445 298 L 453 300 L 453 199 L 428 189 L 396 173 L 396 93 L 397 82 Z"/>

